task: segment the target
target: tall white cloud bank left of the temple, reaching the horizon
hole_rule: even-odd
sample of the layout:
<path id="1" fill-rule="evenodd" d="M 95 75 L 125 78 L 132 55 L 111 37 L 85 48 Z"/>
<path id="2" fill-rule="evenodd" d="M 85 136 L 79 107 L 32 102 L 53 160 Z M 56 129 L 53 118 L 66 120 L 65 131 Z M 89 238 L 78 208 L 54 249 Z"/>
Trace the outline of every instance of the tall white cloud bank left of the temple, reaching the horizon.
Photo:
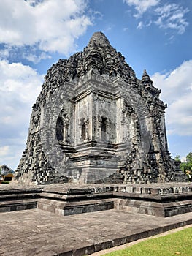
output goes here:
<path id="1" fill-rule="evenodd" d="M 24 149 L 31 107 L 41 89 L 42 75 L 20 63 L 0 61 L 0 165 L 16 167 Z"/>

